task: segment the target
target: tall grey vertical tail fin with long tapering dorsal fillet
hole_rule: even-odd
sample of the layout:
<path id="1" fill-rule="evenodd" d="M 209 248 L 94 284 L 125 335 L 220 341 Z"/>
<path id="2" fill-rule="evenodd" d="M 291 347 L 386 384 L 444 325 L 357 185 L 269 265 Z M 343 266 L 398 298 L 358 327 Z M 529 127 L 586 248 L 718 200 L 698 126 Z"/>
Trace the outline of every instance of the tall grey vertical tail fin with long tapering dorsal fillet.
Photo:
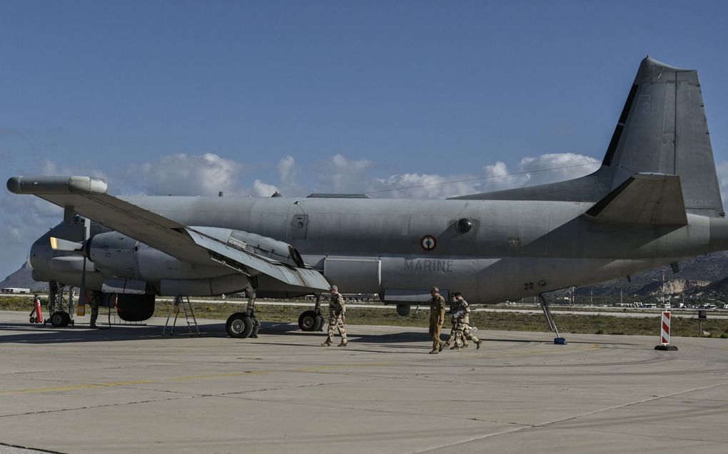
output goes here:
<path id="1" fill-rule="evenodd" d="M 602 161 L 565 182 L 465 195 L 479 200 L 601 200 L 634 174 L 678 175 L 688 213 L 724 216 L 697 71 L 642 60 Z"/>

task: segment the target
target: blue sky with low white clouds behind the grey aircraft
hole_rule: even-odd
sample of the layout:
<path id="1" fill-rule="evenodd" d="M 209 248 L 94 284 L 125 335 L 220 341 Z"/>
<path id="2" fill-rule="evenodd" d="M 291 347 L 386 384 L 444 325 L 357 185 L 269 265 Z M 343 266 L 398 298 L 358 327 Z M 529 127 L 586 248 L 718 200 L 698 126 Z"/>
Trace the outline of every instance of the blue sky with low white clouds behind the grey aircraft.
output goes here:
<path id="1" fill-rule="evenodd" d="M 699 70 L 728 179 L 727 5 L 0 0 L 0 177 L 413 197 L 563 179 L 601 161 L 650 54 Z M 6 191 L 0 216 L 4 277 L 59 214 Z"/>

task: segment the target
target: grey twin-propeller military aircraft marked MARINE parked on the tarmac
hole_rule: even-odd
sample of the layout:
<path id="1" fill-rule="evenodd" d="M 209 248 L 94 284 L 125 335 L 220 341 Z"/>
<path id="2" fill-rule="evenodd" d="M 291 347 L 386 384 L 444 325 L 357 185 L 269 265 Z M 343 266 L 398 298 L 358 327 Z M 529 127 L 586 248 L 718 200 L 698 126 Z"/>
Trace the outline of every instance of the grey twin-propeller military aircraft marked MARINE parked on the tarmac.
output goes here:
<path id="1" fill-rule="evenodd" d="M 36 280 L 116 294 L 125 320 L 150 317 L 155 296 L 246 290 L 247 309 L 226 323 L 240 338 L 258 331 L 256 297 L 317 295 L 299 319 L 314 331 L 333 284 L 378 293 L 406 315 L 431 285 L 488 304 L 728 248 L 697 71 L 650 57 L 601 167 L 569 181 L 446 200 L 114 197 L 92 177 L 12 177 L 7 187 L 65 208 L 31 248 Z"/>

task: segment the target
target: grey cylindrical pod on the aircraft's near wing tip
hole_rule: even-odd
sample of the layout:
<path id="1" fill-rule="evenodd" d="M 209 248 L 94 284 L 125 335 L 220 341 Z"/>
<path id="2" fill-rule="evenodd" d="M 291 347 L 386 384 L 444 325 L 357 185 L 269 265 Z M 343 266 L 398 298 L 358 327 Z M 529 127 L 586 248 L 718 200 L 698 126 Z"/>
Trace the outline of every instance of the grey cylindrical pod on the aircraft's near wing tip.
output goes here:
<path id="1" fill-rule="evenodd" d="M 106 180 L 94 177 L 11 177 L 7 190 L 14 194 L 106 194 Z"/>

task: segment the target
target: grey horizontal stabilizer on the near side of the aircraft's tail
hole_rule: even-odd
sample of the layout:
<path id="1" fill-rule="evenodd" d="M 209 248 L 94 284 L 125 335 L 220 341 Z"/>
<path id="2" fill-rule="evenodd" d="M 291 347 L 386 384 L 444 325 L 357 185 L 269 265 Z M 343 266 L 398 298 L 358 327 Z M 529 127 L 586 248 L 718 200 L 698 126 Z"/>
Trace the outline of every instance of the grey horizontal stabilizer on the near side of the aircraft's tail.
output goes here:
<path id="1" fill-rule="evenodd" d="M 685 225 L 680 177 L 634 174 L 589 208 L 586 216 L 612 224 Z"/>

